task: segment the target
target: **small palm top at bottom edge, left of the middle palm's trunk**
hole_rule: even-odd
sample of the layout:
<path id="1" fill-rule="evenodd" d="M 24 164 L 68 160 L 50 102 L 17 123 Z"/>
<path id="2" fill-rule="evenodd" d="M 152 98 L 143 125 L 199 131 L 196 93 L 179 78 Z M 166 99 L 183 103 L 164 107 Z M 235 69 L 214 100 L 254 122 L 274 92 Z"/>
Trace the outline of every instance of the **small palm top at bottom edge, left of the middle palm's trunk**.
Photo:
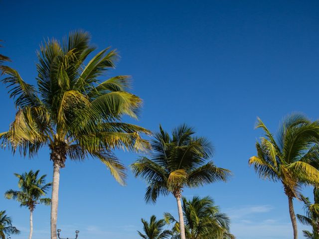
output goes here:
<path id="1" fill-rule="evenodd" d="M 166 225 L 164 219 L 156 220 L 156 216 L 151 216 L 150 223 L 141 219 L 143 223 L 143 231 L 145 234 L 142 234 L 138 231 L 138 234 L 143 239 L 168 239 L 172 236 L 172 232 L 170 230 L 164 230 L 164 226 Z"/>

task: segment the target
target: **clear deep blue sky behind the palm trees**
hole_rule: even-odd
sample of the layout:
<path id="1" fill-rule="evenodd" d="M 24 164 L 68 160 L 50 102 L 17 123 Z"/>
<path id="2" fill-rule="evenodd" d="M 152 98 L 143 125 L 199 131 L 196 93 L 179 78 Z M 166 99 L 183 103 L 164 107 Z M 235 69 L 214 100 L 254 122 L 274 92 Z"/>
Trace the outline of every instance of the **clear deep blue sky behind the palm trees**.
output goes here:
<path id="1" fill-rule="evenodd" d="M 113 75 L 132 75 L 133 92 L 144 100 L 138 124 L 170 130 L 186 122 L 207 136 L 216 150 L 213 160 L 233 172 L 229 183 L 216 183 L 184 195 L 211 195 L 232 218 L 238 239 L 290 239 L 288 200 L 280 184 L 260 180 L 248 158 L 255 154 L 254 130 L 260 117 L 272 131 L 292 112 L 319 119 L 319 1 L 0 1 L 1 53 L 12 59 L 22 78 L 35 82 L 36 54 L 47 37 L 61 39 L 71 30 L 91 33 L 102 49 L 121 55 Z M 14 106 L 0 87 L 5 131 Z M 128 119 L 128 121 L 131 121 Z M 138 155 L 117 152 L 129 165 Z M 0 192 L 16 188 L 14 172 L 40 169 L 52 177 L 48 149 L 34 159 L 0 151 Z M 121 187 L 100 162 L 67 161 L 60 176 L 58 228 L 62 236 L 80 239 L 138 239 L 140 219 L 163 212 L 176 215 L 173 197 L 156 205 L 144 202 L 145 183 L 129 172 Z M 305 194 L 311 196 L 311 190 Z M 28 233 L 28 211 L 0 197 L 22 233 Z M 302 204 L 295 202 L 296 212 Z M 49 207 L 34 212 L 34 239 L 49 237 Z M 300 228 L 301 231 L 301 228 Z"/>

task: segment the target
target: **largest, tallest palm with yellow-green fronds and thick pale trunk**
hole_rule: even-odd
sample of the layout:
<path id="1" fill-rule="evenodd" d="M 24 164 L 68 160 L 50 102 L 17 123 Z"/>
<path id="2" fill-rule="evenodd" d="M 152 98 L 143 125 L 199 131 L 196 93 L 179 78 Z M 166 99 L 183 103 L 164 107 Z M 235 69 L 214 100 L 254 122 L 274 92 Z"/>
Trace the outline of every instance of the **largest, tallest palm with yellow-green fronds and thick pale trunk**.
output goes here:
<path id="1" fill-rule="evenodd" d="M 71 32 L 62 44 L 56 39 L 44 42 L 38 51 L 37 87 L 22 80 L 18 72 L 1 67 L 3 82 L 17 108 L 8 131 L 0 134 L 2 145 L 11 146 L 32 157 L 48 146 L 53 162 L 51 197 L 51 239 L 56 239 L 60 168 L 67 158 L 82 161 L 99 159 L 114 178 L 125 183 L 124 165 L 113 149 L 145 150 L 148 142 L 140 133 L 143 127 L 121 122 L 123 116 L 137 119 L 142 100 L 129 93 L 128 76 L 102 81 L 115 67 L 118 54 L 103 49 L 90 60 L 95 50 L 88 32 Z M 86 63 L 88 61 L 88 63 Z"/>

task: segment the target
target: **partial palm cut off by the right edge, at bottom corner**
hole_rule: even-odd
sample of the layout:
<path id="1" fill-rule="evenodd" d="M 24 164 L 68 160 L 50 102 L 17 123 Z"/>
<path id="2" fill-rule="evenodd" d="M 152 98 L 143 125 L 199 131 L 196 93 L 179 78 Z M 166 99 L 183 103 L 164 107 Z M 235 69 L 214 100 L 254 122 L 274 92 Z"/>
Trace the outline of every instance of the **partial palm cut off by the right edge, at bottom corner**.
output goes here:
<path id="1" fill-rule="evenodd" d="M 313 232 L 304 230 L 304 237 L 307 239 L 319 239 L 319 188 L 314 188 L 314 203 L 312 204 L 309 198 L 302 196 L 305 203 L 304 209 L 306 215 L 297 214 L 298 220 L 306 226 L 311 226 Z"/>

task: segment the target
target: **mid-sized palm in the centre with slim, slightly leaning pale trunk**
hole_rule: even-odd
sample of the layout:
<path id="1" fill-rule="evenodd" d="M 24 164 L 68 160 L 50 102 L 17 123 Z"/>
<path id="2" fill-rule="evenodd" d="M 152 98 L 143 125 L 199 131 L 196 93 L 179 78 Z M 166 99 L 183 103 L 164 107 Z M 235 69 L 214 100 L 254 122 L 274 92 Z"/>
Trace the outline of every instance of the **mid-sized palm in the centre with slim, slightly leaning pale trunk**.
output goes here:
<path id="1" fill-rule="evenodd" d="M 194 188 L 216 181 L 226 181 L 230 171 L 206 162 L 213 147 L 204 137 L 194 136 L 185 124 L 172 130 L 171 136 L 160 126 L 151 142 L 152 158 L 142 157 L 131 165 L 135 176 L 147 181 L 147 202 L 156 202 L 160 194 L 173 194 L 177 201 L 180 238 L 185 239 L 181 193 L 184 187 Z"/>

